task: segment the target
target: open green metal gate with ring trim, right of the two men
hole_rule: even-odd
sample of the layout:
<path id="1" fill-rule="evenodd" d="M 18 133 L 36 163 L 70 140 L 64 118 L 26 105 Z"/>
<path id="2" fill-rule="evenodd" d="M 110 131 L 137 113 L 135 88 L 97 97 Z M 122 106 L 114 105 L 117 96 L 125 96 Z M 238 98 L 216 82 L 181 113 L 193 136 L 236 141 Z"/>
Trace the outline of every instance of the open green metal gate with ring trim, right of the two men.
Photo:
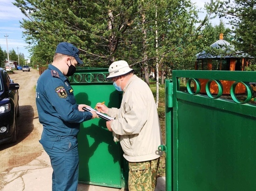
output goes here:
<path id="1" fill-rule="evenodd" d="M 188 79 L 187 88 L 180 78 Z M 199 79 L 209 79 L 201 94 Z M 234 81 L 230 96 L 220 80 Z M 173 71 L 166 80 L 166 190 L 255 191 L 256 72 Z M 219 92 L 211 94 L 210 84 Z M 245 96 L 236 95 L 237 85 Z M 194 87 L 193 87 L 194 85 Z"/>

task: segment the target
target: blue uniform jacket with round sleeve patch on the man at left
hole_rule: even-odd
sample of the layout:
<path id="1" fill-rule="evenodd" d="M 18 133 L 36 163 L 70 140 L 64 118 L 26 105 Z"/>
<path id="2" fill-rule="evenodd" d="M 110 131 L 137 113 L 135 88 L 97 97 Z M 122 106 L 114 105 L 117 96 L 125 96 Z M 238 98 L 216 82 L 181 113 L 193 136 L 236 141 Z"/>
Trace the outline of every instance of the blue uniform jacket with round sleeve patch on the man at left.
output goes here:
<path id="1" fill-rule="evenodd" d="M 43 125 L 42 140 L 58 141 L 75 137 L 80 123 L 92 118 L 90 112 L 78 110 L 69 81 L 51 64 L 37 81 L 36 106 Z"/>

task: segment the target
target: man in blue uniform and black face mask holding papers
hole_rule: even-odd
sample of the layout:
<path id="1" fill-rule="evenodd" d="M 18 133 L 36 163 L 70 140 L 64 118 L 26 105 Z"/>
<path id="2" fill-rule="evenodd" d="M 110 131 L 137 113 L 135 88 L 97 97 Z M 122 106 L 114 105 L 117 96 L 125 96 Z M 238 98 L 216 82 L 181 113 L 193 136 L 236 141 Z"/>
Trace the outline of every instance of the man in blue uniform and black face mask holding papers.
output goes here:
<path id="1" fill-rule="evenodd" d="M 72 76 L 76 64 L 83 64 L 78 49 L 67 42 L 57 45 L 54 60 L 39 77 L 36 106 L 43 125 L 40 143 L 53 167 L 52 190 L 76 191 L 78 185 L 77 134 L 80 123 L 98 118 L 77 104 L 73 89 L 65 76 Z"/>

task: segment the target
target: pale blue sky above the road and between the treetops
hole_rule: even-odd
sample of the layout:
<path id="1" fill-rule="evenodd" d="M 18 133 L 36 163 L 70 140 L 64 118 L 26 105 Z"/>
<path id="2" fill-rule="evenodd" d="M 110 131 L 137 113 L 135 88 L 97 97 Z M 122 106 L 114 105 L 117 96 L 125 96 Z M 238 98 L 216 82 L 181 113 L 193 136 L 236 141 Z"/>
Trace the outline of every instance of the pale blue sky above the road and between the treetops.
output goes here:
<path id="1" fill-rule="evenodd" d="M 204 3 L 210 0 L 191 0 L 195 3 L 198 8 L 203 11 Z M 0 0 L 0 46 L 2 50 L 14 50 L 16 53 L 23 53 L 25 59 L 29 59 L 30 54 L 26 49 L 25 38 L 22 38 L 23 29 L 20 28 L 19 20 L 25 18 L 25 16 L 20 12 L 20 9 L 12 4 L 14 0 Z M 205 14 L 200 13 L 200 16 L 204 18 Z M 211 21 L 214 25 L 220 23 L 220 19 L 216 18 Z M 6 37 L 7 42 L 6 42 Z M 17 48 L 19 47 L 19 48 Z"/>

